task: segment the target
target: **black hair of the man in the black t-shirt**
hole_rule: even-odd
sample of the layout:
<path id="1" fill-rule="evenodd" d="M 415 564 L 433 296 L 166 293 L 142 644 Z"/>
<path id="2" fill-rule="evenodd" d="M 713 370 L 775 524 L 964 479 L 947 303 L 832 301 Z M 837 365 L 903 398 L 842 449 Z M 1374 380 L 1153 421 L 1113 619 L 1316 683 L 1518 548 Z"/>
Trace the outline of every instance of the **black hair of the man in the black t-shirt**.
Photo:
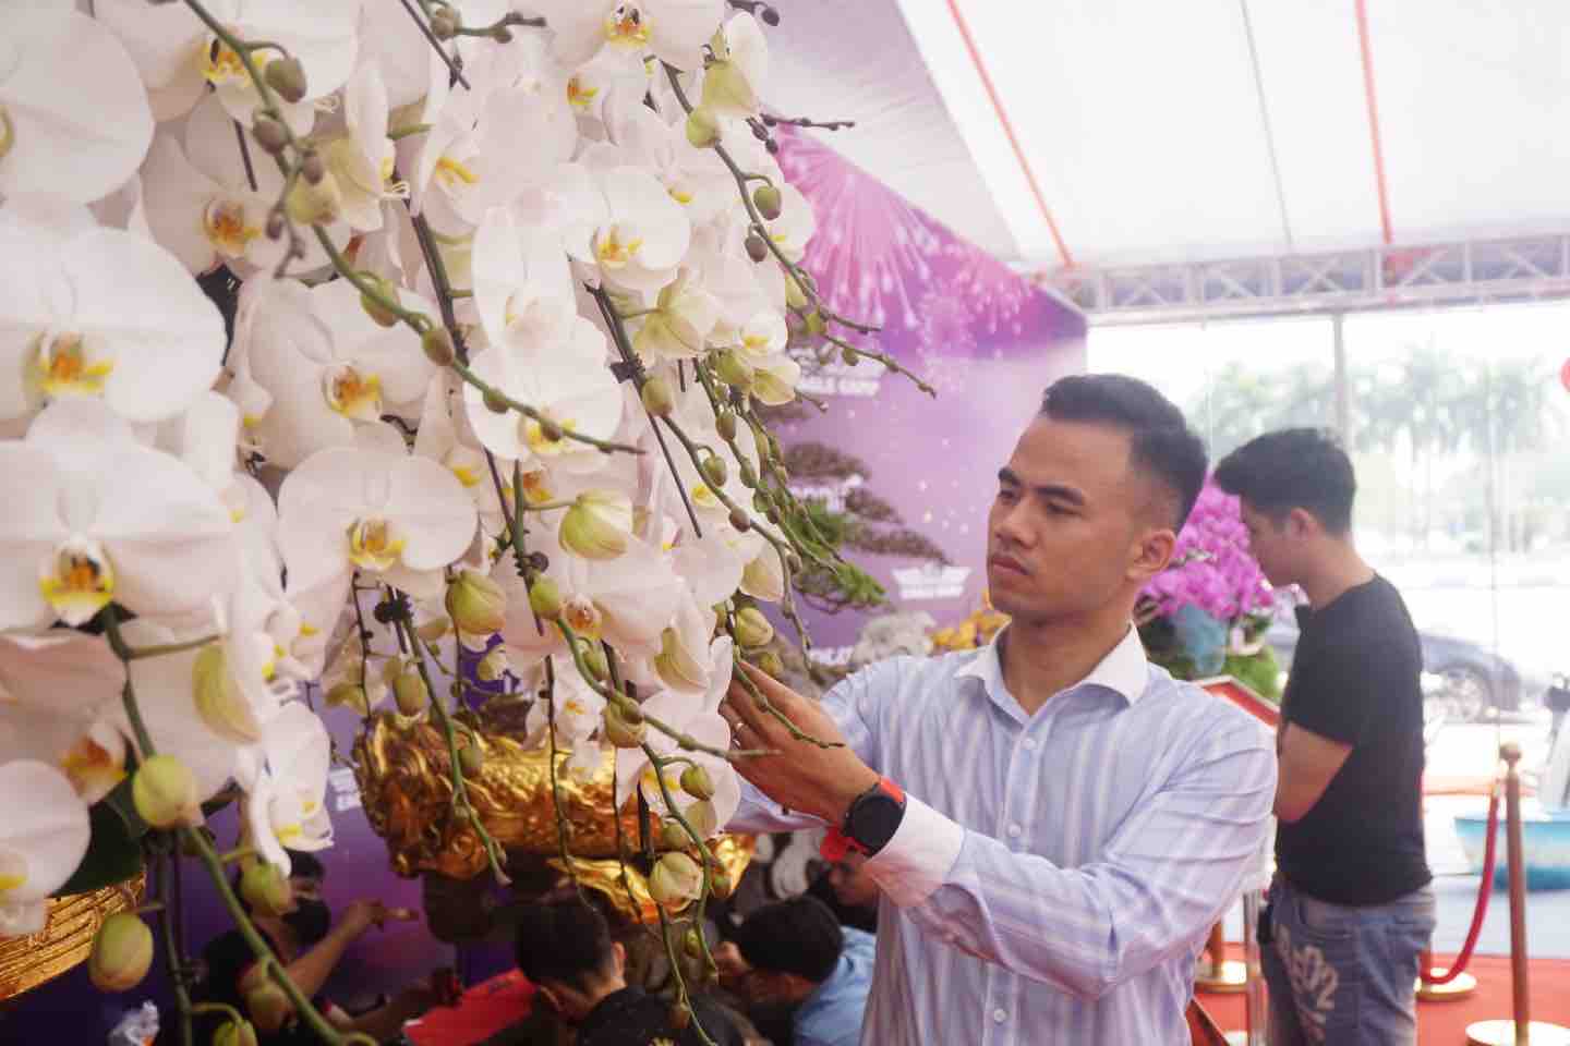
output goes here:
<path id="1" fill-rule="evenodd" d="M 1283 428 L 1248 441 L 1217 466 L 1215 485 L 1276 522 L 1306 508 L 1330 533 L 1352 528 L 1358 481 L 1352 458 L 1325 428 Z"/>

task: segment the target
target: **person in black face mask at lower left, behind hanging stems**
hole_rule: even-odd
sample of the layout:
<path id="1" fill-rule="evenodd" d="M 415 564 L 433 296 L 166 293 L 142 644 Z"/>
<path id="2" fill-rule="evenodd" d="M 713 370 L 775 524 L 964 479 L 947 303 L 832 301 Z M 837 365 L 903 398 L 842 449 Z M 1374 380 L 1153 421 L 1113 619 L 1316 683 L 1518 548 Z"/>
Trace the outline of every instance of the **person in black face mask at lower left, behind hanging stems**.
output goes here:
<path id="1" fill-rule="evenodd" d="M 322 985 L 338 968 L 349 946 L 371 927 L 380 927 L 394 913 L 389 913 L 378 900 L 356 900 L 344 910 L 334 924 L 333 911 L 322 900 L 322 878 L 327 869 L 309 853 L 290 852 L 289 858 L 292 864 L 289 884 L 294 888 L 289 910 L 279 916 L 265 916 L 251 911 L 243 897 L 240 906 L 246 910 L 256 930 L 272 947 L 290 980 L 336 1029 L 363 1032 L 377 1041 L 394 1041 L 405 1021 L 419 1016 L 436 1002 L 429 985 L 411 985 L 386 1005 L 355 1018 L 320 994 Z M 237 875 L 237 897 L 239 892 Z M 243 1016 L 250 1016 L 242 983 L 250 986 L 248 979 L 256 966 L 256 953 L 240 936 L 240 932 L 229 930 L 207 944 L 203 950 L 203 964 L 207 972 L 196 986 L 193 1001 L 221 1002 L 234 1007 Z M 201 1026 L 206 1027 L 206 1037 L 198 1035 L 196 1040 L 207 1041 L 223 1022 L 221 1018 L 206 1018 L 201 1021 Z M 168 1041 L 168 1037 L 160 1037 L 160 1041 Z M 257 1046 L 295 1046 L 317 1043 L 319 1037 L 298 1016 L 290 1015 L 284 1026 L 275 1032 L 264 1032 L 257 1027 L 256 1041 Z"/>

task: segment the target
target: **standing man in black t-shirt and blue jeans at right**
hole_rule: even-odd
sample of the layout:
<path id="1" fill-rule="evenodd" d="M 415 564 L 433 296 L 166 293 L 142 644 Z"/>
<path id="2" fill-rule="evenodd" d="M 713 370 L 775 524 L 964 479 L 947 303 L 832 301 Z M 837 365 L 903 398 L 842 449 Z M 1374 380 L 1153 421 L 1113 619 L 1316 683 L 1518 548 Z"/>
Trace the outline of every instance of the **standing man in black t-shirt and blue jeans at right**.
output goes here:
<path id="1" fill-rule="evenodd" d="M 1262 960 L 1272 1046 L 1413 1046 L 1433 932 L 1422 845 L 1422 649 L 1352 543 L 1352 461 L 1324 431 L 1267 433 L 1215 470 L 1272 585 L 1308 607 L 1276 735 L 1276 881 Z"/>

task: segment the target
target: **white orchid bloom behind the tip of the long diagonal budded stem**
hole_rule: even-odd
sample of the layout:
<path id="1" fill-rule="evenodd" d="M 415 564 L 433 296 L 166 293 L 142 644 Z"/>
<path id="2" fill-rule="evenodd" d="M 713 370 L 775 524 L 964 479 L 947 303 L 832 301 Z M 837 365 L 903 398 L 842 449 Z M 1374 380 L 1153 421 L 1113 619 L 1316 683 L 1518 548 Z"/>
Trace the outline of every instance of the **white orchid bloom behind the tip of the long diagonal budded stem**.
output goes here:
<path id="1" fill-rule="evenodd" d="M 550 354 L 521 356 L 491 347 L 473 358 L 474 373 L 518 403 L 540 411 L 560 434 L 517 411 L 490 411 L 480 390 L 465 386 L 463 403 L 479 441 L 502 458 L 551 464 L 568 472 L 597 470 L 604 455 L 567 433 L 612 439 L 622 422 L 622 389 L 604 365 L 604 334 L 582 317 L 568 317 Z"/>

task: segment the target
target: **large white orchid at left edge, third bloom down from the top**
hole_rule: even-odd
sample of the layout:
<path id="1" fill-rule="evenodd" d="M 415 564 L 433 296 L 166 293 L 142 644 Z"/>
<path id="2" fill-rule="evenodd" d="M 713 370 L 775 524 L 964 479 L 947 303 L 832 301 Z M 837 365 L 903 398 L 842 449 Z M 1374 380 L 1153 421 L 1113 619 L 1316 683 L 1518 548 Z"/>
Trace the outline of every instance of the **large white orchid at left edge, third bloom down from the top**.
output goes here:
<path id="1" fill-rule="evenodd" d="M 0 442 L 0 629 L 82 624 L 108 602 L 181 616 L 234 583 L 229 511 L 184 463 L 116 436 L 118 419 L 66 400 L 25 442 Z M 122 423 L 121 423 L 122 425 Z"/>

